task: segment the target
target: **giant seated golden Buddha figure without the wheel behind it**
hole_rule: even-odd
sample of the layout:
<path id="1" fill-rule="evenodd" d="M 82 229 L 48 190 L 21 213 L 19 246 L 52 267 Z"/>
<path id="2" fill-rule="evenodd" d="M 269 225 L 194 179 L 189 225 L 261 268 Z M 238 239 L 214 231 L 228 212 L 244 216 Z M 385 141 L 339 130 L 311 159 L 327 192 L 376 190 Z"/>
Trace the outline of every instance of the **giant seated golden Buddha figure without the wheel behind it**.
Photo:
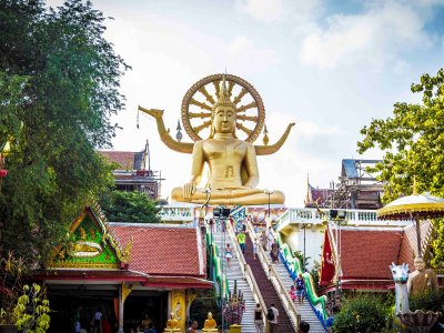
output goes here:
<path id="1" fill-rule="evenodd" d="M 252 143 L 236 139 L 235 121 L 235 104 L 230 99 L 223 79 L 219 99 L 211 112 L 210 137 L 194 143 L 191 179 L 183 186 L 173 189 L 172 201 L 206 202 L 206 193 L 198 188 L 206 163 L 210 169 L 209 203 L 229 205 L 284 203 L 285 196 L 282 192 L 265 193 L 255 189 L 259 183 L 255 149 Z"/>

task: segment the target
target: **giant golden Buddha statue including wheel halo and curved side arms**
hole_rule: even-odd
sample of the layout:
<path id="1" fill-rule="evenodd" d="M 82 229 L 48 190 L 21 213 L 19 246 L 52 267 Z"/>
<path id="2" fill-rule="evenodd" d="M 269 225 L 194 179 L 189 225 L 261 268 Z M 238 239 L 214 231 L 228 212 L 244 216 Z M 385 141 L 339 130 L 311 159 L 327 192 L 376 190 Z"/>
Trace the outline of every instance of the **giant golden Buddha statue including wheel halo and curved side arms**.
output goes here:
<path id="1" fill-rule="evenodd" d="M 208 80 L 212 78 L 209 77 L 201 81 L 203 81 L 203 83 L 214 84 L 216 101 L 206 91 L 205 85 L 202 87 L 203 83 L 199 84 L 200 81 L 193 85 L 191 91 L 194 93 L 196 91 L 201 92 L 211 105 L 196 101 L 193 95 L 190 97 L 190 93 L 185 95 L 184 102 L 182 103 L 182 120 L 190 137 L 196 140 L 194 144 L 176 142 L 169 135 L 163 125 L 162 111 L 147 110 L 139 107 L 139 110 L 153 115 L 158 120 L 159 132 L 162 141 L 168 147 L 181 152 L 191 152 L 192 149 L 193 162 L 191 179 L 183 186 L 173 189 L 171 195 L 172 200 L 205 203 L 208 201 L 208 194 L 204 193 L 203 189 L 198 188 L 198 185 L 202 179 L 204 165 L 208 164 L 210 176 L 205 188 L 211 189 L 209 203 L 229 205 L 265 204 L 269 202 L 284 203 L 285 196 L 282 192 L 268 191 L 265 193 L 263 190 L 255 189 L 259 183 L 256 155 L 270 154 L 278 151 L 286 140 L 290 129 L 294 123 L 287 127 L 284 135 L 282 135 L 278 143 L 270 147 L 268 145 L 265 129 L 265 145 L 254 147 L 251 142 L 256 139 L 264 125 L 264 108 L 262 100 L 260 100 L 254 88 L 238 77 L 226 75 L 232 80 L 229 81 L 228 87 L 225 75 L 222 75 L 222 82 L 219 75 L 213 77 L 216 77 L 218 80 Z M 242 90 L 232 101 L 230 97 L 235 83 L 239 83 Z M 246 105 L 238 107 L 236 103 L 239 103 L 246 92 L 252 92 L 254 101 Z M 188 109 L 190 104 L 199 105 L 211 112 L 190 112 Z M 251 108 L 258 108 L 259 114 L 241 114 Z M 209 118 L 209 120 L 193 128 L 190 124 L 190 119 L 195 118 Z M 245 121 L 252 122 L 255 128 L 250 130 L 244 125 Z M 210 128 L 209 138 L 202 140 L 198 133 L 208 127 Z M 246 133 L 248 139 L 238 139 L 236 129 Z"/>

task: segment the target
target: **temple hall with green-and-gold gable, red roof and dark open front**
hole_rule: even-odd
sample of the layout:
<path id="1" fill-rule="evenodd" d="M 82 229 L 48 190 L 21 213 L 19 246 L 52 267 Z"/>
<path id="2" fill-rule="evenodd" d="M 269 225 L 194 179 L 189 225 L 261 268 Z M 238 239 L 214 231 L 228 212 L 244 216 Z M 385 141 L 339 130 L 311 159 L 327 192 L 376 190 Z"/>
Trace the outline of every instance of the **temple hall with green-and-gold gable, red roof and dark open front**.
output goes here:
<path id="1" fill-rule="evenodd" d="M 74 316 L 88 329 L 98 310 L 112 332 L 137 332 L 143 320 L 162 332 L 172 312 L 183 332 L 195 290 L 213 287 L 205 268 L 200 228 L 111 223 L 91 204 L 34 278 L 58 309 L 51 332 L 71 332 Z"/>

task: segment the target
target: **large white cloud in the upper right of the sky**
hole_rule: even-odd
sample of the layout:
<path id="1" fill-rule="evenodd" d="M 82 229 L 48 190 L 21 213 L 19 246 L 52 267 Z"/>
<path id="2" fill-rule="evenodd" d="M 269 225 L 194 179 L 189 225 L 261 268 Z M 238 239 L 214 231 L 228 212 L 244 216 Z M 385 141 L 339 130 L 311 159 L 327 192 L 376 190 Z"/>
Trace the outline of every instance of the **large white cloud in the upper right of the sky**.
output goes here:
<path id="1" fill-rule="evenodd" d="M 430 46 L 424 23 L 406 3 L 373 3 L 363 14 L 330 17 L 327 28 L 306 36 L 301 59 L 321 69 L 354 62 L 380 67 L 403 51 Z"/>

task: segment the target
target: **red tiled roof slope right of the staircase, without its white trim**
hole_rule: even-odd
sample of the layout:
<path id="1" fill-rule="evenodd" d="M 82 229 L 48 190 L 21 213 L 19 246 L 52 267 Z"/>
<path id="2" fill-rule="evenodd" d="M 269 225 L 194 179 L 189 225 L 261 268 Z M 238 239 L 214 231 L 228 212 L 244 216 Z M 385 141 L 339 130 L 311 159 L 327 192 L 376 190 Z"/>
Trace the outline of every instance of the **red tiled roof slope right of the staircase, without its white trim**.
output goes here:
<path id="1" fill-rule="evenodd" d="M 389 265 L 397 263 L 402 238 L 401 230 L 342 229 L 343 279 L 392 279 Z"/>

